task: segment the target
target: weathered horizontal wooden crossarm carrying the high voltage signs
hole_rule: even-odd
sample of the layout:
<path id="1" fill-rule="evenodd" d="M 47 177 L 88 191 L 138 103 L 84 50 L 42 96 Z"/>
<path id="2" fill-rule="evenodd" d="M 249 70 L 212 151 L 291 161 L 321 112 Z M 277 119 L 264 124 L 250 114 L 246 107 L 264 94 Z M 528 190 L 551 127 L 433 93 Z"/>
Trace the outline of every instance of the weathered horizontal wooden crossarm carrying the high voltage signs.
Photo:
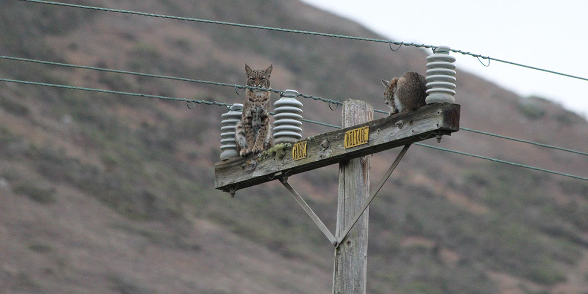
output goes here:
<path id="1" fill-rule="evenodd" d="M 215 188 L 223 191 L 243 189 L 272 181 L 280 175 L 294 175 L 407 143 L 434 138 L 436 133 L 456 132 L 459 130 L 459 113 L 460 106 L 457 104 L 433 103 L 414 112 L 386 116 L 301 139 L 300 141 L 307 141 L 307 156 L 297 161 L 292 160 L 290 146 L 285 148 L 283 158 L 260 153 L 217 162 Z M 369 125 L 368 143 L 345 149 L 345 132 L 366 125 Z"/>

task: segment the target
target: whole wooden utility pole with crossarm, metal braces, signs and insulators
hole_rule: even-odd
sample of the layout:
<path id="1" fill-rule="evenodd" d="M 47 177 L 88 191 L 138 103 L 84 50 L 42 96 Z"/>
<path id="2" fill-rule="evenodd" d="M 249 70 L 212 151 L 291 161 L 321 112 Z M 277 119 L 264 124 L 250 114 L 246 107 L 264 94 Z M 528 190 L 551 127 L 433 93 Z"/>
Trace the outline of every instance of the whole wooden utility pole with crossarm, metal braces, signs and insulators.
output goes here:
<path id="1" fill-rule="evenodd" d="M 238 119 L 229 111 L 223 115 L 221 134 L 222 162 L 215 164 L 215 188 L 232 196 L 239 189 L 279 180 L 298 202 L 310 219 L 335 246 L 333 265 L 333 294 L 365 294 L 368 266 L 368 207 L 415 142 L 459 131 L 460 106 L 455 104 L 455 57 L 450 48 L 439 46 L 427 57 L 427 98 L 425 106 L 414 111 L 400 112 L 373 119 L 373 108 L 366 102 L 348 100 L 343 103 L 342 129 L 300 139 L 302 106 L 295 99 L 280 99 L 283 108 L 276 116 L 283 122 L 280 136 L 288 137 L 268 151 L 246 157 L 231 152 L 232 139 Z M 290 91 L 290 92 L 289 92 Z M 286 93 L 288 92 L 288 94 Z M 282 95 L 296 96 L 287 90 Z M 277 103 L 277 102 L 276 102 Z M 235 116 L 236 117 L 236 116 Z M 276 138 L 276 134 L 274 135 Z M 404 146 L 382 179 L 370 192 L 369 155 Z M 225 153 L 226 152 L 226 153 Z M 230 155 L 232 154 L 232 155 Z M 302 196 L 288 183 L 289 176 L 323 166 L 339 163 L 339 196 L 335 235 L 312 211 Z"/>

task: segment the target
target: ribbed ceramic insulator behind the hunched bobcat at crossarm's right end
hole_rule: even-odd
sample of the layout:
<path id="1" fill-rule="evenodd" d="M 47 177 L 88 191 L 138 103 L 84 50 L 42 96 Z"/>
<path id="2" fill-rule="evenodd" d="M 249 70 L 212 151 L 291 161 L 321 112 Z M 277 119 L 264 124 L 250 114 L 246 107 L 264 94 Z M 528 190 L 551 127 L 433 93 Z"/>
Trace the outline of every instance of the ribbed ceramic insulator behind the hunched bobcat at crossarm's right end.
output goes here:
<path id="1" fill-rule="evenodd" d="M 427 98 L 430 103 L 455 103 L 455 57 L 449 47 L 439 46 L 435 54 L 427 56 Z"/>

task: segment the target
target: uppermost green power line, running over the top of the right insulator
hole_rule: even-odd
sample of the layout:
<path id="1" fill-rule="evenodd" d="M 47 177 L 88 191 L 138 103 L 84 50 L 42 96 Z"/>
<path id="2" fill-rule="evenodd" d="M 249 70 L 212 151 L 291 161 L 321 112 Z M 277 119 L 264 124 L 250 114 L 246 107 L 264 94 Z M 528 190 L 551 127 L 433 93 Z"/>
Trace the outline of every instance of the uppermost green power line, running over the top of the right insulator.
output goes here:
<path id="1" fill-rule="evenodd" d="M 395 45 L 399 45 L 399 46 L 414 46 L 414 47 L 417 47 L 417 48 L 431 48 L 433 50 L 437 49 L 437 47 L 438 47 L 438 46 L 434 46 L 434 45 L 415 44 L 415 43 L 407 43 L 407 42 L 397 42 L 397 41 L 383 40 L 383 39 L 375 39 L 375 38 L 363 38 L 363 37 L 358 37 L 358 36 L 346 36 L 346 35 L 328 34 L 328 33 L 321 33 L 321 32 L 299 31 L 299 30 L 296 30 L 296 29 L 273 28 L 273 27 L 270 27 L 270 26 L 260 26 L 260 25 L 246 25 L 246 24 L 238 24 L 238 23 L 234 23 L 234 22 L 211 21 L 211 20 L 208 20 L 208 19 L 185 18 L 185 17 L 181 17 L 181 16 L 171 16 L 171 15 L 162 15 L 162 14 L 149 14 L 149 13 L 146 13 L 146 12 L 139 12 L 139 11 L 129 11 L 129 10 L 122 10 L 122 9 L 103 8 L 103 7 L 88 6 L 88 5 L 78 5 L 78 4 L 68 4 L 68 3 L 53 2 L 53 1 L 42 1 L 42 0 L 19 0 L 19 1 L 34 2 L 34 3 L 41 3 L 41 4 L 50 4 L 50 5 L 59 5 L 59 6 L 68 6 L 68 7 L 83 8 L 83 9 L 93 9 L 93 10 L 98 10 L 98 11 L 118 12 L 118 13 L 123 13 L 123 14 L 135 14 L 135 15 L 142 15 L 142 16 L 152 16 L 152 17 L 158 17 L 158 18 L 178 19 L 178 20 L 181 20 L 181 21 L 203 22 L 203 23 L 207 23 L 207 24 L 239 26 L 239 27 L 242 27 L 242 28 L 265 29 L 265 30 L 269 30 L 269 31 L 289 32 L 289 33 L 293 33 L 293 34 L 307 34 L 307 35 L 316 35 L 316 36 L 328 36 L 328 37 L 332 37 L 332 38 L 343 38 L 343 39 L 353 39 L 353 40 L 359 40 L 359 41 L 380 42 L 380 43 L 387 43 L 387 44 L 395 44 Z M 562 76 L 567 76 L 569 78 L 581 79 L 583 81 L 588 81 L 588 78 L 583 78 L 582 76 L 575 76 L 575 75 L 564 74 L 563 72 L 556 72 L 556 71 L 551 71 L 549 69 L 537 68 L 536 66 L 519 64 L 517 62 L 506 61 L 506 60 L 503 60 L 503 59 L 493 58 L 493 57 L 490 57 L 490 56 L 484 56 L 484 55 L 480 55 L 480 54 L 473 54 L 471 52 L 466 52 L 466 51 L 462 51 L 462 50 L 458 50 L 458 49 L 450 49 L 450 51 L 455 52 L 455 53 L 459 53 L 459 54 L 463 54 L 463 55 L 470 55 L 470 56 L 473 56 L 473 57 L 476 57 L 476 58 L 482 58 L 482 59 L 488 59 L 488 60 L 493 60 L 493 61 L 497 61 L 497 62 L 503 62 L 505 64 L 521 66 L 521 67 L 524 67 L 524 68 L 534 69 L 534 70 L 537 70 L 537 71 L 549 72 L 550 74 L 562 75 Z"/>

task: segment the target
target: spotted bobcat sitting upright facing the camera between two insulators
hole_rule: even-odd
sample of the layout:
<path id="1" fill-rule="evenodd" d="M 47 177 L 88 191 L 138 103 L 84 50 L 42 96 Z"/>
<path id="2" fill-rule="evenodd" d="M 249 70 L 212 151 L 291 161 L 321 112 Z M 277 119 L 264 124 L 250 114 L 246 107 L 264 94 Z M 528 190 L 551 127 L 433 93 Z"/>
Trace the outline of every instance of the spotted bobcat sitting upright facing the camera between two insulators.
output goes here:
<path id="1" fill-rule="evenodd" d="M 253 71 L 245 64 L 247 85 L 269 89 L 272 66 Z M 269 91 L 245 90 L 245 103 L 241 121 L 237 123 L 235 141 L 240 156 L 258 153 L 273 146 L 272 129 L 269 125 Z"/>

